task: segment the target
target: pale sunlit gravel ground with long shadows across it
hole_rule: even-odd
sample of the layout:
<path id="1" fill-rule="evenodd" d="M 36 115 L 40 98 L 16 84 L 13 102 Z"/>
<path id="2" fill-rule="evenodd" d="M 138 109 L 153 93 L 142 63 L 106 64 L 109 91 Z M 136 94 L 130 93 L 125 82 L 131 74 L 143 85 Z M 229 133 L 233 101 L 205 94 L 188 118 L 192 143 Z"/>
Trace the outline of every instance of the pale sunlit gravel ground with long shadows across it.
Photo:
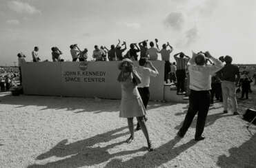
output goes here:
<path id="1" fill-rule="evenodd" d="M 256 108 L 256 89 L 239 111 Z M 127 144 L 128 127 L 116 100 L 0 94 L 0 167 L 256 167 L 256 126 L 210 107 L 204 136 L 195 142 L 195 120 L 175 138 L 187 104 L 150 102 L 148 130 Z M 196 118 L 195 118 L 196 119 Z M 135 122 L 136 123 L 136 122 Z"/>

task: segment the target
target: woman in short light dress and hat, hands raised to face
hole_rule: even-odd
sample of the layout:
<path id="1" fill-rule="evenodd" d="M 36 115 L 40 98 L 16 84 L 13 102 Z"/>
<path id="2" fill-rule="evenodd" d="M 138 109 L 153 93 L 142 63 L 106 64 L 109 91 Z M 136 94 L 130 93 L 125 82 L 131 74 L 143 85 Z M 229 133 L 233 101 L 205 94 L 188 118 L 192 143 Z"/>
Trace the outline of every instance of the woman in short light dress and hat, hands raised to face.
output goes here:
<path id="1" fill-rule="evenodd" d="M 120 117 L 127 118 L 130 130 L 130 137 L 126 142 L 131 143 L 134 139 L 133 118 L 136 117 L 139 125 L 141 125 L 142 132 L 146 137 L 148 151 L 152 151 L 152 146 L 148 136 L 148 129 L 144 120 L 146 109 L 142 103 L 141 96 L 139 96 L 139 91 L 137 90 L 137 84 L 141 82 L 140 77 L 135 71 L 130 59 L 124 59 L 121 61 L 121 63 L 119 63 L 119 70 L 121 70 L 121 72 L 117 81 L 121 83 Z"/>

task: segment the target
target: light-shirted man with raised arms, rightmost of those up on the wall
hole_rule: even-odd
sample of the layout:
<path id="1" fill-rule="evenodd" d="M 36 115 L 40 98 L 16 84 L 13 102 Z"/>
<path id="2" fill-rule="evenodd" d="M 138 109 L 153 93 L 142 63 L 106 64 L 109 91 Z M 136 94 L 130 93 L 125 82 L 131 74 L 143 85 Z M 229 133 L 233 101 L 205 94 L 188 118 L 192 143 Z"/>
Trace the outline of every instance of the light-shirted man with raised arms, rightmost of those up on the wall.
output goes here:
<path id="1" fill-rule="evenodd" d="M 164 81 L 165 83 L 168 83 L 168 74 L 170 72 L 170 53 L 173 52 L 173 47 L 169 44 L 169 42 L 167 42 L 166 44 L 162 45 L 163 48 L 161 49 L 160 53 L 161 53 L 161 60 L 165 61 L 164 64 Z M 170 47 L 170 50 L 167 50 L 166 47 Z"/>

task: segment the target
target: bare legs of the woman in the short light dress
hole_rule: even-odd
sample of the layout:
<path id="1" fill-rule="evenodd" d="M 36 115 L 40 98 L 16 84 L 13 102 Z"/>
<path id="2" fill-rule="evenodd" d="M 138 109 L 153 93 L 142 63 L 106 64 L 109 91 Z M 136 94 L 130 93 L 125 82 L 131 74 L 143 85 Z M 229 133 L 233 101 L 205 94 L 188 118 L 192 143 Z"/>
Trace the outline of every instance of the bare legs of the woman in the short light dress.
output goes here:
<path id="1" fill-rule="evenodd" d="M 137 118 L 137 121 L 139 123 L 139 125 L 141 126 L 141 130 L 147 140 L 147 143 L 148 143 L 148 151 L 152 151 L 152 147 L 151 147 L 151 142 L 149 140 L 149 136 L 148 136 L 148 128 L 146 127 L 146 123 L 145 123 L 145 120 L 144 120 L 144 116 L 139 116 L 139 117 L 136 117 Z M 128 119 L 128 127 L 129 127 L 129 130 L 130 130 L 130 138 L 128 138 L 126 140 L 127 143 L 131 143 L 132 140 L 134 139 L 134 127 L 133 127 L 133 118 L 127 118 Z"/>

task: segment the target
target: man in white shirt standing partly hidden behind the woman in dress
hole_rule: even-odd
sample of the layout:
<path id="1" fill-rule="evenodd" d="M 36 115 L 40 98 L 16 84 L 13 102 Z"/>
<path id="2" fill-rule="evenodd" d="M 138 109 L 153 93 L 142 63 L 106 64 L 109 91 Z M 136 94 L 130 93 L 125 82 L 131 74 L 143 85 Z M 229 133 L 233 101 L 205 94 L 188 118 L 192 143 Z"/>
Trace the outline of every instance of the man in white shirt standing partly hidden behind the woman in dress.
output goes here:
<path id="1" fill-rule="evenodd" d="M 147 108 L 150 92 L 150 76 L 156 77 L 158 75 L 157 68 L 147 58 L 139 59 L 139 67 L 137 68 L 137 73 L 141 77 L 141 83 L 138 85 L 139 94 L 141 96 L 142 102 L 144 104 L 145 109 Z M 139 130 L 140 126 L 137 123 L 136 130 Z"/>

